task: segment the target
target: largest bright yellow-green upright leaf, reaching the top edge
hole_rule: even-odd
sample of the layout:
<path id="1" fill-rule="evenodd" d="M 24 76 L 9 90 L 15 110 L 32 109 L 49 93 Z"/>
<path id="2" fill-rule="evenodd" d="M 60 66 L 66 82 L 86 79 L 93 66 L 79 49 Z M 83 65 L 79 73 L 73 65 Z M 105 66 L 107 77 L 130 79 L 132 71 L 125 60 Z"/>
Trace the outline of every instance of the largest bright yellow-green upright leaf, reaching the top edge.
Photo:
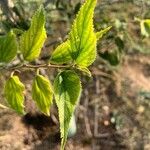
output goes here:
<path id="1" fill-rule="evenodd" d="M 93 15 L 96 0 L 86 0 L 74 20 L 69 34 L 71 57 L 77 65 L 88 67 L 96 58 L 96 34 Z"/>

